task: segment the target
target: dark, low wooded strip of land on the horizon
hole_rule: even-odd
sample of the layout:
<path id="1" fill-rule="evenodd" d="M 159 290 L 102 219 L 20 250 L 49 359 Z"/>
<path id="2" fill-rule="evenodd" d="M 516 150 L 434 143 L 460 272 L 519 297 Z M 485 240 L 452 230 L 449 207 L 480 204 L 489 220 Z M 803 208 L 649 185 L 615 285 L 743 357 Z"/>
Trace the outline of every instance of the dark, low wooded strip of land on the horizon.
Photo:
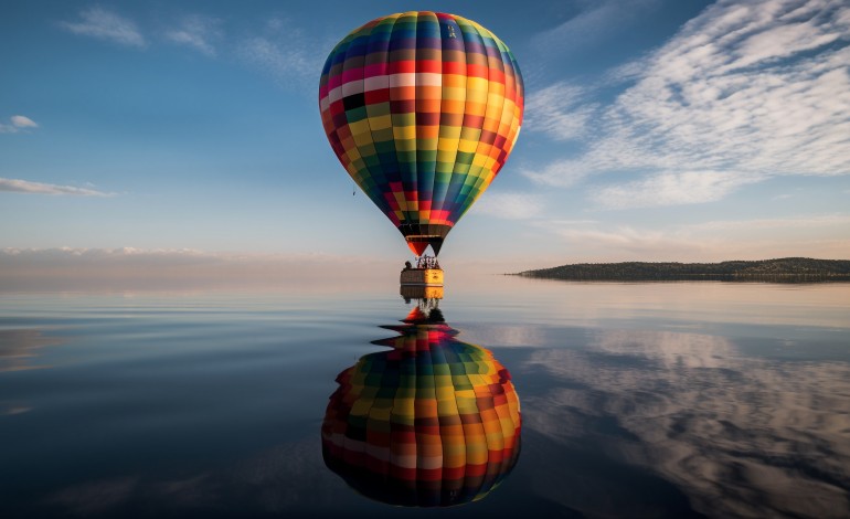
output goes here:
<path id="1" fill-rule="evenodd" d="M 721 263 L 576 263 L 509 275 L 588 282 L 850 282 L 850 260 L 783 257 Z"/>

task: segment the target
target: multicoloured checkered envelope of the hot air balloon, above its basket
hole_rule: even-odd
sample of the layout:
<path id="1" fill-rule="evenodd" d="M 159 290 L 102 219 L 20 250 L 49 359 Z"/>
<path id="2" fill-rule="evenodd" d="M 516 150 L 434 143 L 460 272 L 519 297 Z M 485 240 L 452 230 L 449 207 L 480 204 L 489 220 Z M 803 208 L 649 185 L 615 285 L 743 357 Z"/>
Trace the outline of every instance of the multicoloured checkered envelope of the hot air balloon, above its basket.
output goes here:
<path id="1" fill-rule="evenodd" d="M 421 256 L 499 173 L 523 114 L 517 61 L 455 14 L 378 18 L 333 47 L 319 108 L 333 152 Z"/>

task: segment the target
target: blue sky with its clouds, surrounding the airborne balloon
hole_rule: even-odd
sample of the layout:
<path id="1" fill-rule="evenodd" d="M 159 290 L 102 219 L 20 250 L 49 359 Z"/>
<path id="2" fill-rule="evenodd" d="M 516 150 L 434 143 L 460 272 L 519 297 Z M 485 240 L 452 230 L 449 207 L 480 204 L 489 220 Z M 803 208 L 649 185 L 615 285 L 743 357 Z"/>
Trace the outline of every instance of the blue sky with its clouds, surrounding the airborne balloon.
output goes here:
<path id="1" fill-rule="evenodd" d="M 846 2 L 293 3 L 0 4 L 0 251 L 401 263 L 316 98 L 349 31 L 427 9 L 493 31 L 527 83 L 444 263 L 850 257 Z"/>

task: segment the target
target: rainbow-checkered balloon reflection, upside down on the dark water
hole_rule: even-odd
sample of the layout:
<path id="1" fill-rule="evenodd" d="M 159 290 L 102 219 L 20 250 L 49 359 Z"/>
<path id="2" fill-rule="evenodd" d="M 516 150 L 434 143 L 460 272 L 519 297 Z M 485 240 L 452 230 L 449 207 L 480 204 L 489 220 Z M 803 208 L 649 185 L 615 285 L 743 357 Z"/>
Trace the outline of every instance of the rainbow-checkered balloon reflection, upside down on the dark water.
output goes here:
<path id="1" fill-rule="evenodd" d="M 402 506 L 481 499 L 520 453 L 520 403 L 492 353 L 456 339 L 421 303 L 390 351 L 337 377 L 321 428 L 325 463 L 362 495 Z"/>

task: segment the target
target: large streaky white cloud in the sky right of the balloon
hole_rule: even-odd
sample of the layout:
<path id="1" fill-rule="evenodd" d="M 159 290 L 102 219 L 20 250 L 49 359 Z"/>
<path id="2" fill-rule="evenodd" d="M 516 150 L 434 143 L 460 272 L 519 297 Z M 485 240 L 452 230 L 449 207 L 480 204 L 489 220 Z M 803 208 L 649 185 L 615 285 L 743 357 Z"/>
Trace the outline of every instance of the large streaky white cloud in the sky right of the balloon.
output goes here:
<path id="1" fill-rule="evenodd" d="M 718 200 L 776 174 L 848 174 L 849 41 L 842 2 L 720 1 L 626 67 L 635 83 L 593 118 L 585 151 L 527 174 L 569 186 L 583 176 L 644 171 L 647 178 L 626 177 L 595 197 L 612 208 Z M 574 88 L 564 82 L 551 92 Z M 574 135 L 572 121 L 564 126 Z M 545 131 L 559 137 L 556 128 Z M 658 187 L 665 195 L 647 203 L 641 197 Z M 638 202 L 621 203 L 631 189 Z"/>

